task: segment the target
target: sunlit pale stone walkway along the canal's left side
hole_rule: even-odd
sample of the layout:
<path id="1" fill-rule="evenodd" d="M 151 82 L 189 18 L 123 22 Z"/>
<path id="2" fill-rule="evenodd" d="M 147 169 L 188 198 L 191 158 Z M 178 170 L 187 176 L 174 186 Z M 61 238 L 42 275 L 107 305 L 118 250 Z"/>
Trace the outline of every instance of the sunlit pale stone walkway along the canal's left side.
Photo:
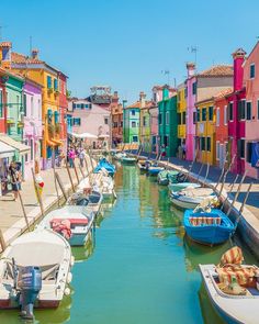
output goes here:
<path id="1" fill-rule="evenodd" d="M 90 161 L 89 156 L 87 156 L 86 161 L 88 165 L 86 165 L 85 163 L 82 172 L 88 178 L 89 174 L 91 174 L 92 171 L 94 161 Z M 77 160 L 76 166 L 76 172 L 74 168 L 69 168 L 72 183 L 70 181 L 66 166 L 56 168 L 56 172 L 58 174 L 61 180 L 63 187 L 67 195 L 69 195 L 72 192 L 72 186 L 77 187 L 78 178 L 79 180 L 83 178 L 81 171 L 78 168 Z M 58 183 L 55 183 L 53 169 L 41 171 L 41 176 L 44 181 L 42 204 L 43 212 L 44 214 L 46 214 L 54 206 L 58 206 L 58 204 L 61 204 L 64 202 L 64 194 Z M 21 198 L 27 222 L 30 226 L 33 226 L 33 224 L 35 224 L 42 217 L 42 210 L 36 198 L 33 179 L 22 182 Z M 12 193 L 10 193 L 2 197 L 0 200 L 0 230 L 2 232 L 5 245 L 9 245 L 14 238 L 20 236 L 27 230 L 27 223 L 24 217 L 24 212 L 21 202 L 20 200 L 13 201 L 12 199 Z"/>

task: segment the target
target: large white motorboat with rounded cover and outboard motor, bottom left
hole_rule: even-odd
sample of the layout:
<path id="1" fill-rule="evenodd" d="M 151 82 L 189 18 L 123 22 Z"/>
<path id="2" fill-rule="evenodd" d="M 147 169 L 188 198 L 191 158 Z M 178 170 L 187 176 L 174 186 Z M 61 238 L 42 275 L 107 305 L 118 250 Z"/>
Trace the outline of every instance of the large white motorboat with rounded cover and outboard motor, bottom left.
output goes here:
<path id="1" fill-rule="evenodd" d="M 20 308 L 33 317 L 33 305 L 57 308 L 70 290 L 74 262 L 68 242 L 36 228 L 14 239 L 0 258 L 0 309 Z M 25 304 L 24 304 L 25 303 Z"/>

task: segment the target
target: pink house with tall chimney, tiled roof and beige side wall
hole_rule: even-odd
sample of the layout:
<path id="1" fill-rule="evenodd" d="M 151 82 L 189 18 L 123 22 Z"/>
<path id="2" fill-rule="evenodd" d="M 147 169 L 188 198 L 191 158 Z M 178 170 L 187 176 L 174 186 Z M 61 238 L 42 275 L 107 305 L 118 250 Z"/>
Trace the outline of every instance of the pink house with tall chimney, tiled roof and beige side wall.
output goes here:
<path id="1" fill-rule="evenodd" d="M 187 159 L 193 160 L 199 141 L 195 139 L 195 103 L 229 88 L 233 83 L 233 67 L 216 65 L 195 74 L 195 65 L 187 64 Z"/>

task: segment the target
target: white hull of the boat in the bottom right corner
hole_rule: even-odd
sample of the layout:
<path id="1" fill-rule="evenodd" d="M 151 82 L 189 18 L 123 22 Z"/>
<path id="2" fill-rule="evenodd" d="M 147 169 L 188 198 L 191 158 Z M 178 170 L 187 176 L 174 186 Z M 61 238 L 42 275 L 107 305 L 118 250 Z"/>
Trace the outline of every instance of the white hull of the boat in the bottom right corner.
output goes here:
<path id="1" fill-rule="evenodd" d="M 245 294 L 230 294 L 221 290 L 215 265 L 199 265 L 202 279 L 213 308 L 229 324 L 257 324 L 259 309 L 259 290 L 248 287 Z M 244 270 L 251 266 L 240 266 Z M 255 267 L 255 266 L 254 266 Z M 255 267 L 258 271 L 258 268 Z"/>

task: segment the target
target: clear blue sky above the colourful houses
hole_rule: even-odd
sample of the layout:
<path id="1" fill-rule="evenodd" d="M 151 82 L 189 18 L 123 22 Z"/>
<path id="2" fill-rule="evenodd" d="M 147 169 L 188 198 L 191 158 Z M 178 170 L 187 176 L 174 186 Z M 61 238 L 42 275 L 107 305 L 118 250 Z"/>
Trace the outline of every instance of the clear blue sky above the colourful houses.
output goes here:
<path id="1" fill-rule="evenodd" d="M 249 5 L 247 4 L 249 2 Z M 259 36 L 258 0 L 10 0 L 0 3 L 2 40 L 13 51 L 33 47 L 69 76 L 74 96 L 110 85 L 121 97 L 150 96 L 154 85 L 184 80 L 188 47 L 198 46 L 199 70 L 232 63 Z"/>

